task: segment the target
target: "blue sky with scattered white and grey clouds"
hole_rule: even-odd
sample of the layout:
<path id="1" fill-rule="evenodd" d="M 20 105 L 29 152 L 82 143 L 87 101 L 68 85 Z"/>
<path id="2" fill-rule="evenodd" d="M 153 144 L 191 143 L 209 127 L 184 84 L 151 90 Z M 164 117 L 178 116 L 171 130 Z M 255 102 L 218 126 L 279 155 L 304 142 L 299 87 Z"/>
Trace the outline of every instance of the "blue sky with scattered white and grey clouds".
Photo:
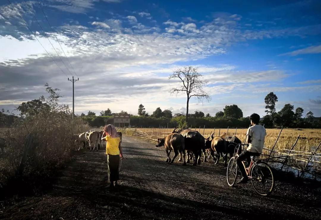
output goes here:
<path id="1" fill-rule="evenodd" d="M 141 103 L 185 112 L 169 75 L 195 66 L 211 100 L 191 99 L 190 113 L 236 104 L 263 117 L 274 92 L 277 111 L 291 103 L 321 116 L 320 1 L 10 2 L 0 2 L 0 109 L 46 95 L 46 83 L 72 107 L 74 76 L 75 114 L 136 115 Z"/>

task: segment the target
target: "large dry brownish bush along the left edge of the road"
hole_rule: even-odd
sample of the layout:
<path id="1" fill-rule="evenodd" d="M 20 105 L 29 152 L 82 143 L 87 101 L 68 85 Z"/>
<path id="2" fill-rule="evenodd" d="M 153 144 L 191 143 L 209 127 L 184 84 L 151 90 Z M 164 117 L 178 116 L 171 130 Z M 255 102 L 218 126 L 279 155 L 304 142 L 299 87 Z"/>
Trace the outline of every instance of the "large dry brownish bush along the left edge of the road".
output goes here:
<path id="1" fill-rule="evenodd" d="M 72 120 L 69 107 L 58 106 L 57 102 L 50 109 L 40 109 L 33 115 L 26 114 L 12 128 L 2 129 L 1 137 L 9 144 L 5 152 L 0 154 L 0 189 L 8 181 L 17 179 L 17 169 L 29 134 L 32 144 L 19 179 L 24 182 L 30 180 L 29 185 L 33 187 L 36 181 L 50 177 L 70 158 L 76 147 L 72 141 L 73 134 L 87 130 L 89 126 L 80 117 Z"/>

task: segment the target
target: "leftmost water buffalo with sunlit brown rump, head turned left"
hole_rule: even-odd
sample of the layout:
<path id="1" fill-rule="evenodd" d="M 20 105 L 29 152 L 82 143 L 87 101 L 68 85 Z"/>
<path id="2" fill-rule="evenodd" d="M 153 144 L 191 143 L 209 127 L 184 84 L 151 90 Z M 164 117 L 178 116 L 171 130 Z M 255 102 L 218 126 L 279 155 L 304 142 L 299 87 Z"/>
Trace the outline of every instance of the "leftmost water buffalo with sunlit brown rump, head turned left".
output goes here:
<path id="1" fill-rule="evenodd" d="M 185 138 L 181 134 L 172 133 L 167 135 L 165 138 L 158 138 L 156 147 L 165 146 L 165 151 L 167 154 L 167 163 L 173 163 L 178 155 L 183 153 L 183 165 L 186 165 L 185 161 Z M 169 154 L 174 151 L 173 159 L 170 159 Z"/>

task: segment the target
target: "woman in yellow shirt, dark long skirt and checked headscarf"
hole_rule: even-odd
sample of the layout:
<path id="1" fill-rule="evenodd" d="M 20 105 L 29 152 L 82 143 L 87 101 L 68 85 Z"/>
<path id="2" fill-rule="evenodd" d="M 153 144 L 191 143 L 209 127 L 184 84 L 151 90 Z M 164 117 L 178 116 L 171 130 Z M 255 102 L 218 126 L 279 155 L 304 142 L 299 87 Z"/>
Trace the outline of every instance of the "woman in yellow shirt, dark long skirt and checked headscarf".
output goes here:
<path id="1" fill-rule="evenodd" d="M 104 128 L 104 134 L 101 140 L 106 140 L 106 154 L 108 164 L 108 181 L 110 181 L 110 187 L 117 186 L 117 180 L 119 179 L 119 158 L 123 159 L 123 152 L 120 145 L 120 138 L 117 134 L 116 128 L 113 125 L 106 125 Z"/>

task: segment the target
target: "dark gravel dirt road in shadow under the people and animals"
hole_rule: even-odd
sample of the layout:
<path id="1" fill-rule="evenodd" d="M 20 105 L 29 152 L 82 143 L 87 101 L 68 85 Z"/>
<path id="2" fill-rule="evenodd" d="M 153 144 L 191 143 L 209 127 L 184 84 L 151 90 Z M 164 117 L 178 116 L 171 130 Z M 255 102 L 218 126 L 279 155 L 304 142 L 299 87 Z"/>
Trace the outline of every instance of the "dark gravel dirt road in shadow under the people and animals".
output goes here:
<path id="1" fill-rule="evenodd" d="M 270 197 L 229 188 L 222 164 L 164 163 L 164 148 L 123 137 L 119 187 L 108 191 L 104 149 L 82 154 L 43 196 L 13 200 L 0 219 L 320 219 L 320 189 L 277 181 Z M 178 160 L 178 159 L 177 159 Z"/>

